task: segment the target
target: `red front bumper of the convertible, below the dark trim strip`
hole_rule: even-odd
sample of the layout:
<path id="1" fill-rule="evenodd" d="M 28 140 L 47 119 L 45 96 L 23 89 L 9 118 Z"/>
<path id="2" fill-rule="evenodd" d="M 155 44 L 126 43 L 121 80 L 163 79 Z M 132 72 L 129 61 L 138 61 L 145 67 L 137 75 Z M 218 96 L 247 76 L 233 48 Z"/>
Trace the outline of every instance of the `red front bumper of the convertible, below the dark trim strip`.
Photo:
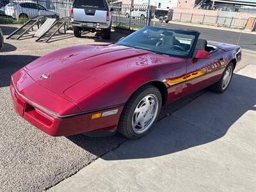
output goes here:
<path id="1" fill-rule="evenodd" d="M 123 109 L 123 106 L 116 106 L 101 111 L 72 114 L 62 118 L 52 115 L 54 113 L 44 110 L 43 106 L 22 95 L 17 90 L 13 79 L 10 84 L 10 91 L 15 111 L 29 123 L 51 136 L 67 136 L 90 131 L 116 131 Z M 92 119 L 93 114 L 103 113 L 112 109 L 118 109 L 118 113 Z"/>

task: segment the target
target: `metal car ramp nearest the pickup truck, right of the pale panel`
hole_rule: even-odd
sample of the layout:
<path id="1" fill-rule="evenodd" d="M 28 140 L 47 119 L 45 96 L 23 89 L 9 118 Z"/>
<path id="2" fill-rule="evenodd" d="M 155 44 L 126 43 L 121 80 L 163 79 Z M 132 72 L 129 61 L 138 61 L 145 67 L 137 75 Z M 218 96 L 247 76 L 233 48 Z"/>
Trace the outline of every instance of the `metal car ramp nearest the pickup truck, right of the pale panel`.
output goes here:
<path id="1" fill-rule="evenodd" d="M 49 28 L 47 31 L 45 31 L 45 33 L 41 36 L 39 36 L 36 39 L 36 42 L 48 42 L 53 35 L 55 35 L 57 32 L 60 33 L 60 29 L 63 26 L 64 27 L 64 31 L 66 33 L 67 30 L 67 22 L 70 19 L 70 17 L 64 17 L 60 20 L 57 20 L 54 24 L 52 24 L 51 28 Z"/>

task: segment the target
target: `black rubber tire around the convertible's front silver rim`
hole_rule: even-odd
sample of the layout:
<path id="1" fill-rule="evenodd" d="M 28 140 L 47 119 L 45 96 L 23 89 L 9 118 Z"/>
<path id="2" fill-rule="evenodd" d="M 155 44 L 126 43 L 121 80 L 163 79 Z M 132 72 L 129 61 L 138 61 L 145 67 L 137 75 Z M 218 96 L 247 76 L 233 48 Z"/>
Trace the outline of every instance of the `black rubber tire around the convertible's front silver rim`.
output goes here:
<path id="1" fill-rule="evenodd" d="M 154 119 L 154 122 L 150 127 L 147 129 L 147 131 L 143 133 L 136 133 L 132 129 L 132 118 L 134 115 L 134 111 L 137 108 L 138 104 L 141 102 L 141 100 L 146 97 L 147 95 L 155 95 L 158 99 L 158 111 L 156 111 L 157 115 L 156 118 Z M 132 94 L 130 99 L 127 101 L 127 103 L 124 106 L 124 109 L 122 111 L 122 114 L 120 116 L 120 120 L 118 122 L 118 132 L 123 134 L 125 137 L 130 138 L 130 139 L 138 139 L 147 134 L 148 131 L 152 128 L 152 126 L 157 122 L 157 118 L 159 116 L 159 113 L 161 111 L 161 106 L 162 106 L 162 96 L 159 90 L 152 85 L 146 84 L 145 86 L 142 86 L 136 92 Z M 155 114 L 156 114 L 155 113 Z"/>

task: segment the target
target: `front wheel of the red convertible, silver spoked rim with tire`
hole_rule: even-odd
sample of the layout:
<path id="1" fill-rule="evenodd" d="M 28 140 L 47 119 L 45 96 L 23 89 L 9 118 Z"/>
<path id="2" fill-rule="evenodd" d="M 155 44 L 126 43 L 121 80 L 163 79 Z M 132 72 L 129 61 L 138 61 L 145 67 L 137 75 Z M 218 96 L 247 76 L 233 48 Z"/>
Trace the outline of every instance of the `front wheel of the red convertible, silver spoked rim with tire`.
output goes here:
<path id="1" fill-rule="evenodd" d="M 161 93 L 155 86 L 141 87 L 125 104 L 118 123 L 118 131 L 127 138 L 141 138 L 157 121 L 161 105 Z"/>

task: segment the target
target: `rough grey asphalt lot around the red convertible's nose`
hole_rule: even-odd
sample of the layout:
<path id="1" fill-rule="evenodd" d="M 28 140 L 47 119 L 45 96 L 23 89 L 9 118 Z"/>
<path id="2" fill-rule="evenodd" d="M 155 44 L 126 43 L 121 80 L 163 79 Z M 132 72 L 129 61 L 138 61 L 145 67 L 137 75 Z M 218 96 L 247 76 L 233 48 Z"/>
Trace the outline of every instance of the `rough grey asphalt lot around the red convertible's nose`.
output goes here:
<path id="1" fill-rule="evenodd" d="M 1 29 L 7 36 L 15 27 L 1 26 Z M 113 34 L 112 42 L 121 36 L 124 35 Z M 74 38 L 72 33 L 68 33 L 52 39 L 51 44 L 35 42 L 30 34 L 20 41 L 4 42 L 4 49 L 0 52 L 0 191 L 42 191 L 51 188 L 126 141 L 120 134 L 111 138 L 88 138 L 82 134 L 52 138 L 16 115 L 10 99 L 10 76 L 20 67 L 62 47 L 99 44 L 106 40 L 92 35 Z M 238 68 L 253 60 L 250 52 L 244 55 L 245 59 Z M 166 106 L 161 118 L 204 92 Z"/>

